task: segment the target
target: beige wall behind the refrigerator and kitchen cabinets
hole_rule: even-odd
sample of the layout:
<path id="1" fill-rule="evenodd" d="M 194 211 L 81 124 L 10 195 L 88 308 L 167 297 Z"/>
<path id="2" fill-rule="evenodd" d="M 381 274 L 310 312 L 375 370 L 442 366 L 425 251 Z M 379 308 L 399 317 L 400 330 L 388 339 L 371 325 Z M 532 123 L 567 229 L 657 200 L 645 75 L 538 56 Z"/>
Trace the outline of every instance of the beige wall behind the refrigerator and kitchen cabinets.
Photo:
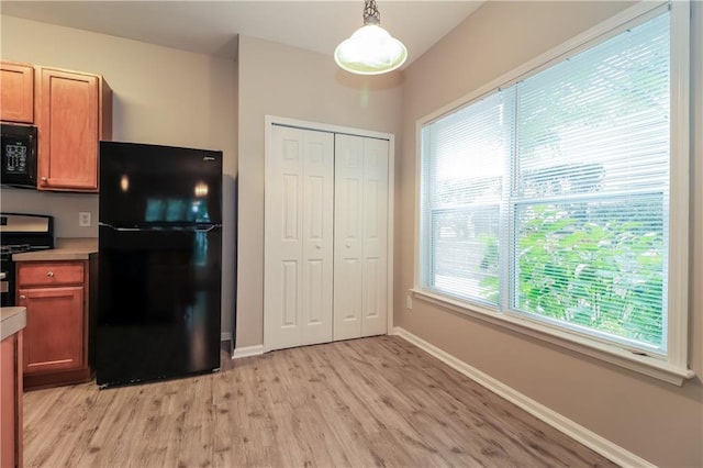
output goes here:
<path id="1" fill-rule="evenodd" d="M 114 93 L 113 140 L 224 152 L 222 331 L 234 315 L 234 180 L 236 64 L 234 60 L 127 41 L 11 16 L 0 16 L 0 56 L 102 75 Z M 1 189 L 2 211 L 56 216 L 59 237 L 97 237 L 98 196 Z M 78 227 L 78 212 L 92 227 Z"/>

